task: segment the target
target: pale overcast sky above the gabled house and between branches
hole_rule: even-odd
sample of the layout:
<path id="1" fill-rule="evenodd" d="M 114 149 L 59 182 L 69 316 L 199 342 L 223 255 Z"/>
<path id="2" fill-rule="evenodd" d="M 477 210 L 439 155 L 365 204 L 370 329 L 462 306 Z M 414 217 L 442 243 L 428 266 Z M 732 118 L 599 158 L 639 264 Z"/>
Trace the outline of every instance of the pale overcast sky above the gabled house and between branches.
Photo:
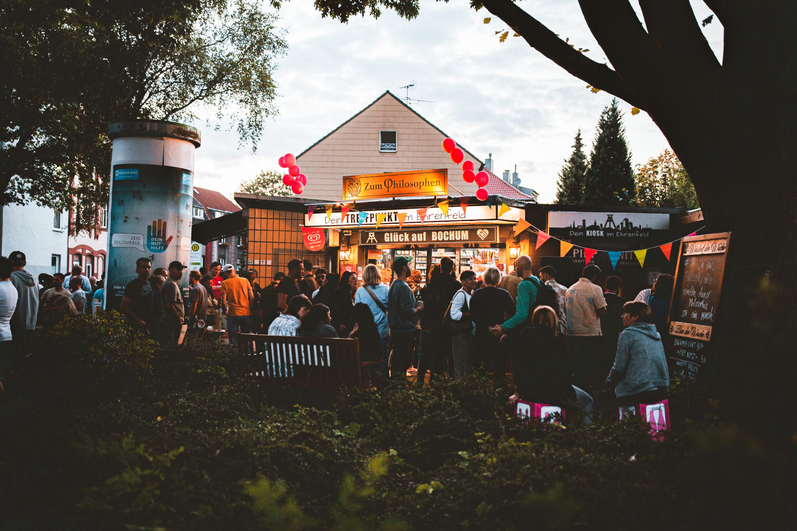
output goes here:
<path id="1" fill-rule="evenodd" d="M 702 0 L 692 3 L 698 20 L 711 14 Z M 400 87 L 414 82 L 410 98 L 434 101 L 414 103 L 416 111 L 482 160 L 492 153 L 497 172 L 517 165 L 522 185 L 536 189 L 540 202 L 550 202 L 575 132 L 581 129 L 588 154 L 600 111 L 611 101 L 611 95 L 593 94 L 522 38 L 499 43 L 494 32 L 505 26 L 497 18 L 485 25 L 489 12 L 474 11 L 465 0 L 422 0 L 413 21 L 383 10 L 379 20 L 355 18 L 348 24 L 321 18 L 309 0 L 283 6 L 279 25 L 289 52 L 274 72 L 280 115 L 266 123 L 256 154 L 252 146 L 238 146 L 238 135 L 226 131 L 227 124 L 221 124 L 222 131 L 214 131 L 214 120 L 210 127 L 197 124 L 202 128 L 198 186 L 231 197 L 242 180 L 276 170 L 281 154 L 300 153 L 386 90 L 405 96 Z M 570 37 L 576 48 L 590 49 L 591 59 L 607 62 L 576 0 L 526 0 L 521 6 Z M 719 21 L 704 33 L 721 61 Z M 669 147 L 646 113 L 630 115 L 625 102 L 621 109 L 634 165 Z"/>

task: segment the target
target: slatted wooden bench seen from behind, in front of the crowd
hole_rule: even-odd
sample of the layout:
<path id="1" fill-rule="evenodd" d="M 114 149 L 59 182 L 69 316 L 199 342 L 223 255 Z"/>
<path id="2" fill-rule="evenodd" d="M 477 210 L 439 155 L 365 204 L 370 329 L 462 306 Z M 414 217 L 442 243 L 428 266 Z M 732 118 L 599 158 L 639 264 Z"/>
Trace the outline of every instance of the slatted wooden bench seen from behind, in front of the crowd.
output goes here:
<path id="1" fill-rule="evenodd" d="M 261 385 L 333 389 L 361 385 L 359 340 L 238 334 L 244 373 Z"/>

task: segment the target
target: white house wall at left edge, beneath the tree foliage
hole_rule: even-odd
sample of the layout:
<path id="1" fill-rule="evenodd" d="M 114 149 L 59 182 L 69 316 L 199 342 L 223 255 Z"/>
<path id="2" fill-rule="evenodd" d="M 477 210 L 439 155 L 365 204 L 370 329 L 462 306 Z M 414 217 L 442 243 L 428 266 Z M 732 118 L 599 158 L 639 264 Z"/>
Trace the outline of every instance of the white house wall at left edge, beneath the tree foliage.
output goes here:
<path id="1" fill-rule="evenodd" d="M 25 253 L 26 270 L 33 276 L 53 274 L 53 256 L 57 257 L 57 270 L 67 271 L 69 248 L 69 213 L 61 213 L 60 227 L 56 228 L 53 209 L 43 206 L 6 205 L 2 208 L 2 256 L 14 251 Z"/>

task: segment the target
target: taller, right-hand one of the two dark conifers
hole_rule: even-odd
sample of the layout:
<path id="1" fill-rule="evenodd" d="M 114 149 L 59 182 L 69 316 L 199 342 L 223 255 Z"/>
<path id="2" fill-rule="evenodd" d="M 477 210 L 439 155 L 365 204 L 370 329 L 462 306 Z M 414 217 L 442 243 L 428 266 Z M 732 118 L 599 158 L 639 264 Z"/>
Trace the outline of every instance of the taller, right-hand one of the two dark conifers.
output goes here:
<path id="1" fill-rule="evenodd" d="M 611 206 L 626 203 L 636 195 L 631 155 L 622 127 L 617 99 L 603 107 L 584 176 L 583 205 Z"/>

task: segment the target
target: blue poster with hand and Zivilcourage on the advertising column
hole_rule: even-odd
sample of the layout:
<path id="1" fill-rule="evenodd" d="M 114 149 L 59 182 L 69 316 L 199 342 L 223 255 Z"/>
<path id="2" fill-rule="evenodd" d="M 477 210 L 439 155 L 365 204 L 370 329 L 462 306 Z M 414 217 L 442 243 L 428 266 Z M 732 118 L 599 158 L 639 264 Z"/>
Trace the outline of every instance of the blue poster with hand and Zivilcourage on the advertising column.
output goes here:
<path id="1" fill-rule="evenodd" d="M 124 287 L 135 279 L 135 260 L 152 271 L 172 260 L 190 265 L 194 174 L 172 166 L 120 164 L 112 168 L 108 220 L 107 309 L 119 310 Z M 188 295 L 183 272 L 183 298 Z"/>

